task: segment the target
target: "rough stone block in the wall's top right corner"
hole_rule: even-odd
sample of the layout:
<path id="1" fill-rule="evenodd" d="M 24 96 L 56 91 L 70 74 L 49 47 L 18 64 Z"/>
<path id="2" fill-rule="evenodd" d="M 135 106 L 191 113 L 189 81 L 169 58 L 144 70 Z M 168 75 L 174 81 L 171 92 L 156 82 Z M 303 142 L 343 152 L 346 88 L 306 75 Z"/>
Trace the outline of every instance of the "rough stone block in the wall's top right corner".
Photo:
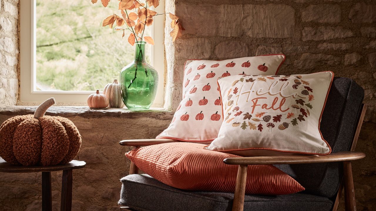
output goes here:
<path id="1" fill-rule="evenodd" d="M 349 19 L 353 23 L 376 22 L 376 4 L 367 5 L 364 2 L 356 3 L 350 10 Z"/>

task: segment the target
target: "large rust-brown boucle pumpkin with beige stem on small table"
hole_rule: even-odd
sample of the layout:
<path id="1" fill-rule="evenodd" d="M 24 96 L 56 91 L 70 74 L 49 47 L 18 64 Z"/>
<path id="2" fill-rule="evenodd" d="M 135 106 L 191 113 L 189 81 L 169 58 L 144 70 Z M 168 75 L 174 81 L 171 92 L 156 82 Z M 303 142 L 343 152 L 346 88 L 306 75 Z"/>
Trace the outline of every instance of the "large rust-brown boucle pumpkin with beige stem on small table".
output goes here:
<path id="1" fill-rule="evenodd" d="M 81 136 L 69 119 L 44 116 L 55 99 L 44 101 L 34 115 L 9 118 L 0 127 L 0 156 L 7 162 L 51 166 L 66 164 L 78 154 Z"/>

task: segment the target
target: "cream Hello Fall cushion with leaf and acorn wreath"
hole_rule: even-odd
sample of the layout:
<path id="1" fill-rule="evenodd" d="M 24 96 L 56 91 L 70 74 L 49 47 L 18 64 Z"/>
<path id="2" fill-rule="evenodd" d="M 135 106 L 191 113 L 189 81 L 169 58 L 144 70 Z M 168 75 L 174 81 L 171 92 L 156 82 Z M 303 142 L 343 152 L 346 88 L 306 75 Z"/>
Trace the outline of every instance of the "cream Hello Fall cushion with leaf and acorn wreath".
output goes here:
<path id="1" fill-rule="evenodd" d="M 219 78 L 224 121 L 206 149 L 243 156 L 326 155 L 320 120 L 333 72 Z"/>

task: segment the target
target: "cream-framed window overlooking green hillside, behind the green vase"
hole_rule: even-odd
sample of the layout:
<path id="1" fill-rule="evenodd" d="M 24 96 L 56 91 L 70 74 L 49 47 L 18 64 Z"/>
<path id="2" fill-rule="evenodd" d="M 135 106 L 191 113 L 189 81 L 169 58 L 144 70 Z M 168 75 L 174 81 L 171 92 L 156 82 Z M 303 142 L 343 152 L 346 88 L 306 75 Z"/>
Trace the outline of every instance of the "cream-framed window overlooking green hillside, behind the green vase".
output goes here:
<path id="1" fill-rule="evenodd" d="M 127 37 L 102 27 L 103 19 L 119 13 L 117 2 L 106 8 L 90 0 L 20 2 L 21 104 L 55 97 L 64 105 L 86 105 L 90 93 L 103 90 L 132 62 L 135 48 Z M 163 3 L 157 12 L 164 12 Z M 147 45 L 146 58 L 159 73 L 153 107 L 163 107 L 164 18 L 154 21 L 145 32 L 155 40 L 155 45 Z"/>

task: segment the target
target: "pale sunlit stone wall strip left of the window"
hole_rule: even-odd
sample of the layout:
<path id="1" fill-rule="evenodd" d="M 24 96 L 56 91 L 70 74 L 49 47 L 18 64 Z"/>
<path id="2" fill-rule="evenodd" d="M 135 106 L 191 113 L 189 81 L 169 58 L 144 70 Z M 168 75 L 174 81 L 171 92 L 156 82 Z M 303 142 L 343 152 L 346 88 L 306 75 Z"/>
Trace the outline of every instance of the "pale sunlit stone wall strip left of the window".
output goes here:
<path id="1" fill-rule="evenodd" d="M 18 0 L 0 0 L 0 106 L 18 98 Z"/>

